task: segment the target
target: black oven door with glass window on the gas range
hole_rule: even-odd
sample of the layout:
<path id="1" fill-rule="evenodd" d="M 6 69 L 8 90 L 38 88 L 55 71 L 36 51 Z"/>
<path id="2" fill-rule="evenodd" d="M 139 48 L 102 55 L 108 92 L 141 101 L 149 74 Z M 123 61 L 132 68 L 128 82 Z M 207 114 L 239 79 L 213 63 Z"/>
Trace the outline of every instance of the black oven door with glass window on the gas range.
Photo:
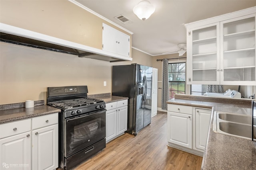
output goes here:
<path id="1" fill-rule="evenodd" d="M 68 118 L 64 125 L 65 157 L 106 137 L 106 109 Z"/>

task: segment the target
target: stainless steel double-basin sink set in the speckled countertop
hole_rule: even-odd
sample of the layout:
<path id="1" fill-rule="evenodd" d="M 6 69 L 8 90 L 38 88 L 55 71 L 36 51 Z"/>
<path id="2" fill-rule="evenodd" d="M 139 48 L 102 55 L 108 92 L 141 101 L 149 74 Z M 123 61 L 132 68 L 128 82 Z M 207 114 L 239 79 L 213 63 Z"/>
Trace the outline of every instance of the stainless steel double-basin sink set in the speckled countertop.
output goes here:
<path id="1" fill-rule="evenodd" d="M 215 111 L 213 130 L 225 135 L 252 139 L 251 121 L 251 115 Z"/>

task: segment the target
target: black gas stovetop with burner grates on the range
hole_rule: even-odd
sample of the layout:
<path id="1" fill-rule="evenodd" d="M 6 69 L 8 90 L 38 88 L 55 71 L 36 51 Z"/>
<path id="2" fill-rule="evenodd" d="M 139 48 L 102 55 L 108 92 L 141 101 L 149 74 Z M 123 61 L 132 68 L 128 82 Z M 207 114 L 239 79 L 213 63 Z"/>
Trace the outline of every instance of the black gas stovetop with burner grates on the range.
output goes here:
<path id="1" fill-rule="evenodd" d="M 98 100 L 94 98 L 78 98 L 78 99 L 71 99 L 71 100 L 62 100 L 57 102 L 51 102 L 50 105 L 61 108 L 61 109 L 72 109 L 76 107 L 90 107 L 94 104 L 104 104 L 103 100 Z"/>

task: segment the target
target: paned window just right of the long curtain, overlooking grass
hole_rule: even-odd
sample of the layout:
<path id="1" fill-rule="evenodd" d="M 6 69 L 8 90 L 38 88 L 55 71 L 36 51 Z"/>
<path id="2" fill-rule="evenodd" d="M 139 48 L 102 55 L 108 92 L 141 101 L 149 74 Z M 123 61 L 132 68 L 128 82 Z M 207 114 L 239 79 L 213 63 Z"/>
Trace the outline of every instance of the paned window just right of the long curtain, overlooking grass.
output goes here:
<path id="1" fill-rule="evenodd" d="M 174 98 L 174 94 L 185 94 L 186 86 L 186 63 L 168 64 L 169 96 Z"/>

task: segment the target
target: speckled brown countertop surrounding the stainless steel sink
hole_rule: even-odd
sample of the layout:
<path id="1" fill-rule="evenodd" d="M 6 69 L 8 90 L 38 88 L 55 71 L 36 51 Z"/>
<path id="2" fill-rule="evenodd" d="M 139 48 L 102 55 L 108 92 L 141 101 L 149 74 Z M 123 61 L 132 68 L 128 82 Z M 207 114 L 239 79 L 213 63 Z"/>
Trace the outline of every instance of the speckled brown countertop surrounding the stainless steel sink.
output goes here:
<path id="1" fill-rule="evenodd" d="M 214 111 L 251 115 L 250 100 L 175 95 L 168 104 L 212 108 L 212 117 L 204 151 L 202 170 L 255 170 L 256 143 L 213 131 Z"/>

